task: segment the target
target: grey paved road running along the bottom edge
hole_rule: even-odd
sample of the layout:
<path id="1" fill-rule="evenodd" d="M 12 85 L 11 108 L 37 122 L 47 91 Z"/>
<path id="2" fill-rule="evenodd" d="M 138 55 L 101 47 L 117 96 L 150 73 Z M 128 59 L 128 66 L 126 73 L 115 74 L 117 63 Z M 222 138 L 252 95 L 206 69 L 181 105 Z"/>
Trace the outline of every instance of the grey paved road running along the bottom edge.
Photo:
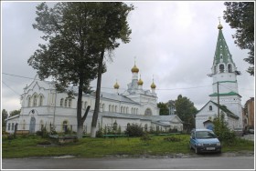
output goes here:
<path id="1" fill-rule="evenodd" d="M 3 169 L 254 169 L 254 156 L 3 159 Z"/>

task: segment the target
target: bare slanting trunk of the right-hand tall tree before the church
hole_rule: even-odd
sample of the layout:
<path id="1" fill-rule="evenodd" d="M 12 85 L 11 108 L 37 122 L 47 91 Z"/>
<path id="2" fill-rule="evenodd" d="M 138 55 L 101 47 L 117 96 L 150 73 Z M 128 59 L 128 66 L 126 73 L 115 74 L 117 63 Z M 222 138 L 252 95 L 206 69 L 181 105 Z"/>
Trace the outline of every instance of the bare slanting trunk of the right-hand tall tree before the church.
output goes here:
<path id="1" fill-rule="evenodd" d="M 101 74 L 103 69 L 103 57 L 104 57 L 104 51 L 101 51 L 101 56 L 99 60 L 99 68 L 98 68 L 98 79 L 97 79 L 97 88 L 96 88 L 96 100 L 95 100 L 95 108 L 92 116 L 92 122 L 91 122 L 91 137 L 96 137 L 96 126 L 97 126 L 97 120 L 100 110 L 100 96 L 101 96 Z"/>

